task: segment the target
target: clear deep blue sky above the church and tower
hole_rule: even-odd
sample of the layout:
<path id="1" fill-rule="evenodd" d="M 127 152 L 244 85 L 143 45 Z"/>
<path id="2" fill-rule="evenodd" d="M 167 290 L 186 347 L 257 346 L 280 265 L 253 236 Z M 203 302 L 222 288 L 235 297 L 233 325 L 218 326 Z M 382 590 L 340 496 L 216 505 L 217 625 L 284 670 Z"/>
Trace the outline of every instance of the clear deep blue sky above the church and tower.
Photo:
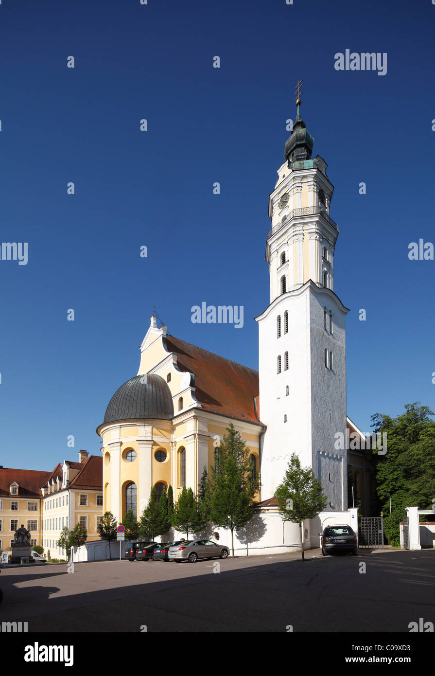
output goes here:
<path id="1" fill-rule="evenodd" d="M 3 0 L 0 240 L 29 259 L 0 260 L 0 464 L 99 452 L 153 304 L 172 335 L 257 368 L 298 79 L 335 187 L 348 414 L 368 431 L 376 412 L 434 408 L 435 261 L 408 258 L 434 240 L 434 23 L 430 0 Z M 387 53 L 386 75 L 335 70 L 345 49 Z M 193 324 L 202 301 L 244 306 L 243 329 Z"/>

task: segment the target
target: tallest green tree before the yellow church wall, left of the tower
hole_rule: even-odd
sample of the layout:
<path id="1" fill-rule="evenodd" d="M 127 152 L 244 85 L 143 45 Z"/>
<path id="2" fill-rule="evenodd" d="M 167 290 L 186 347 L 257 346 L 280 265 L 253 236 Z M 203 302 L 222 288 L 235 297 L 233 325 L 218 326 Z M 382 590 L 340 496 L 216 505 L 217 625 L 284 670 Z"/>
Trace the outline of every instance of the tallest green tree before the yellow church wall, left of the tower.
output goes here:
<path id="1" fill-rule="evenodd" d="M 234 425 L 220 443 L 219 466 L 211 466 L 207 510 L 210 520 L 231 532 L 234 558 L 234 531 L 239 531 L 253 517 L 251 502 L 259 489 L 259 476 L 249 465 L 249 449 Z"/>

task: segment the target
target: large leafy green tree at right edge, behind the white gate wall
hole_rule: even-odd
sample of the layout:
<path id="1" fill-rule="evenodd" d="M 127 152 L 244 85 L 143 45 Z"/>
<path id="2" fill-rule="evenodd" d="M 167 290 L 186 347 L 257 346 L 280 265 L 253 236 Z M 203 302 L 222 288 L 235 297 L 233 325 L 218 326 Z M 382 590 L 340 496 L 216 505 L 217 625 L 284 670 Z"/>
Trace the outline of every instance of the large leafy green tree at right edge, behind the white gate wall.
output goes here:
<path id="1" fill-rule="evenodd" d="M 405 413 L 391 418 L 376 413 L 372 427 L 382 433 L 386 454 L 378 455 L 376 479 L 382 501 L 388 542 L 399 546 L 399 523 L 405 507 L 430 509 L 435 498 L 435 421 L 432 410 L 420 402 L 405 405 Z M 390 497 L 392 511 L 390 512 Z"/>

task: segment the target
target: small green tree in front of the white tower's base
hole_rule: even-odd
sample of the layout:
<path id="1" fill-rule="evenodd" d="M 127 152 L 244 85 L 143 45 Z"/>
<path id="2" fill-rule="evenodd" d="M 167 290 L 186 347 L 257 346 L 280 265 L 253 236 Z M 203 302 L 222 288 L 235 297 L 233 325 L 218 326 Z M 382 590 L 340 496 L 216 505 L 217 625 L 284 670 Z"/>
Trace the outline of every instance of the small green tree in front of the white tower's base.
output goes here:
<path id="1" fill-rule="evenodd" d="M 282 521 L 299 523 L 302 560 L 305 561 L 302 543 L 302 525 L 306 518 L 314 518 L 326 507 L 322 484 L 313 475 L 311 467 L 301 467 L 296 453 L 290 456 L 284 480 L 275 491 Z"/>

